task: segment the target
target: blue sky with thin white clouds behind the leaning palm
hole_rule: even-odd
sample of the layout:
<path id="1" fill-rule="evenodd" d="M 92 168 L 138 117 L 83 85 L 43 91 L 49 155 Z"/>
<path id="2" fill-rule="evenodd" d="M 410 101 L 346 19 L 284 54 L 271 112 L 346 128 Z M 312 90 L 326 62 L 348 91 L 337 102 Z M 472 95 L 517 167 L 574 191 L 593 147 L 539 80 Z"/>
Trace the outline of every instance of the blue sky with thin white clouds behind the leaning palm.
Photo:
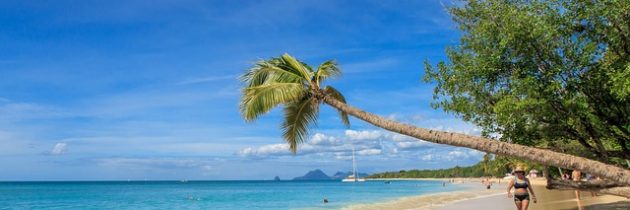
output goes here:
<path id="1" fill-rule="evenodd" d="M 482 153 L 417 141 L 326 107 L 297 155 L 281 113 L 238 112 L 259 59 L 336 59 L 328 84 L 392 119 L 478 134 L 430 107 L 422 62 L 458 31 L 440 1 L 1 1 L 0 180 L 271 179 L 468 165 Z"/>

